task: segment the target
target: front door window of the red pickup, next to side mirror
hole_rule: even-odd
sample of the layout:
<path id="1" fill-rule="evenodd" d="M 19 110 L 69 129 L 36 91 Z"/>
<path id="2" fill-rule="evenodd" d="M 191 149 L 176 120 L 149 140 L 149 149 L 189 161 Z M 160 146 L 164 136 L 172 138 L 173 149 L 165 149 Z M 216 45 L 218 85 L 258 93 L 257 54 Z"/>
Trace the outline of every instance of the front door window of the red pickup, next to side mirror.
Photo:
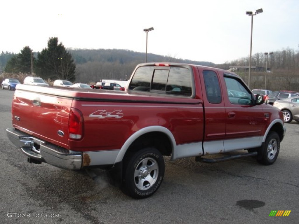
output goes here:
<path id="1" fill-rule="evenodd" d="M 229 102 L 240 105 L 252 104 L 251 92 L 244 86 L 241 80 L 230 76 L 225 76 L 224 80 Z"/>

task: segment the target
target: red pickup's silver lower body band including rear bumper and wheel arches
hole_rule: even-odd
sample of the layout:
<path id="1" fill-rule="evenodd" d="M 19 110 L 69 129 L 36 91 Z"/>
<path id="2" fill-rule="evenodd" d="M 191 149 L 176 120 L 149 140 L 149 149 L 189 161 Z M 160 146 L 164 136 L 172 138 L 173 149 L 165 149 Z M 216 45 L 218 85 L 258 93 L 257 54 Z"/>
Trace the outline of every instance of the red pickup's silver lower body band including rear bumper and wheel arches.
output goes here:
<path id="1" fill-rule="evenodd" d="M 266 136 L 271 130 L 271 127 L 274 124 L 277 124 L 277 122 L 283 126 L 283 123 L 280 119 L 274 120 L 269 125 L 264 136 L 240 139 L 226 139 L 204 143 L 193 142 L 181 145 L 176 145 L 174 136 L 167 128 L 161 126 L 150 126 L 147 128 L 143 128 L 130 136 L 130 138 L 127 139 L 121 149 L 91 152 L 69 151 L 65 148 L 32 137 L 15 128 L 8 128 L 7 136 L 10 141 L 14 145 L 19 147 L 22 152 L 29 158 L 35 159 L 40 162 L 46 162 L 63 169 L 79 170 L 85 166 L 113 165 L 115 163 L 121 162 L 127 149 L 135 141 L 135 139 L 143 134 L 154 131 L 164 133 L 168 136 L 172 147 L 171 160 L 185 157 L 198 157 L 205 154 L 217 154 L 228 151 L 256 148 L 261 146 L 262 143 L 265 142 Z M 283 130 L 284 136 L 284 133 L 286 131 L 284 126 Z"/>

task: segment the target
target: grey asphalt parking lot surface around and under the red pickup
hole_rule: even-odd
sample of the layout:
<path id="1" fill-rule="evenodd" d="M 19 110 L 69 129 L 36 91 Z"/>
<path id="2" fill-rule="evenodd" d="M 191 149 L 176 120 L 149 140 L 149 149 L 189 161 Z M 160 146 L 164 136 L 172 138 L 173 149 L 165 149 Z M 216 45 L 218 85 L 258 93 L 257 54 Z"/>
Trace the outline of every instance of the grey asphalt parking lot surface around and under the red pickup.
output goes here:
<path id="1" fill-rule="evenodd" d="M 10 143 L 13 91 L 0 90 L 0 223 L 298 223 L 299 123 L 286 124 L 277 161 L 253 158 L 218 164 L 166 160 L 164 181 L 150 198 L 134 200 L 85 171 L 29 164 Z M 288 217 L 270 217 L 290 210 Z"/>

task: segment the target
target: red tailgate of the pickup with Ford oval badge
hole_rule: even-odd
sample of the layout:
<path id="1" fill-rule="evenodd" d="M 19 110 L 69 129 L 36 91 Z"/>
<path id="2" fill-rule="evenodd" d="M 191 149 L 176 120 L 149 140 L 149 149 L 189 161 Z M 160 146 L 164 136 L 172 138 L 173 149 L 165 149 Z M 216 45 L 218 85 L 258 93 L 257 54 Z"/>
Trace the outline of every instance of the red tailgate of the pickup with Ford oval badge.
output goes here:
<path id="1" fill-rule="evenodd" d="M 12 105 L 13 127 L 68 149 L 71 97 L 16 90 Z"/>

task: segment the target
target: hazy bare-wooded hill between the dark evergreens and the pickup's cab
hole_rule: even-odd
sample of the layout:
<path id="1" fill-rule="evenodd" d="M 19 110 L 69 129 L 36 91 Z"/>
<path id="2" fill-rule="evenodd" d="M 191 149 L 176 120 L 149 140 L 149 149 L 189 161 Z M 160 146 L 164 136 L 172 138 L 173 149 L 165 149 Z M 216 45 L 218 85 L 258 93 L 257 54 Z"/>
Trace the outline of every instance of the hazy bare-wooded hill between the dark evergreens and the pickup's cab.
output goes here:
<path id="1" fill-rule="evenodd" d="M 119 49 L 67 49 L 76 63 L 76 82 L 92 83 L 101 79 L 129 79 L 136 65 L 145 62 L 145 53 Z M 176 59 L 147 54 L 147 62 L 181 62 L 215 67 L 212 62 Z"/>

